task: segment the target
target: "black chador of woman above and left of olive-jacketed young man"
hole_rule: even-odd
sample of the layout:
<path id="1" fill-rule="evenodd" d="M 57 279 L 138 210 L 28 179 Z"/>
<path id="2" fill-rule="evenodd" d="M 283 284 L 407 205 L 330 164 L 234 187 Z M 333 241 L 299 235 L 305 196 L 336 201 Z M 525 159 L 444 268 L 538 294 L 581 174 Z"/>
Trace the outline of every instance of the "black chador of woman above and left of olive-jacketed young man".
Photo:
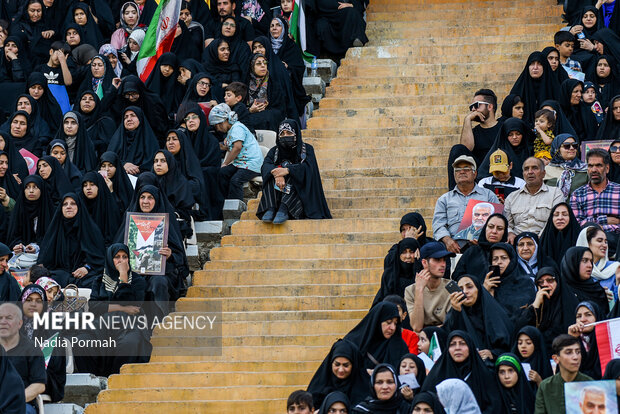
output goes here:
<path id="1" fill-rule="evenodd" d="M 543 300 L 542 306 L 536 311 L 536 327 L 543 334 L 549 357 L 553 339 L 566 333 L 568 327 L 575 322 L 573 311 L 579 301 L 573 289 L 560 277 L 560 272 L 555 267 L 539 269 L 536 282 L 543 276 L 553 276 L 557 283 L 551 298 Z"/>

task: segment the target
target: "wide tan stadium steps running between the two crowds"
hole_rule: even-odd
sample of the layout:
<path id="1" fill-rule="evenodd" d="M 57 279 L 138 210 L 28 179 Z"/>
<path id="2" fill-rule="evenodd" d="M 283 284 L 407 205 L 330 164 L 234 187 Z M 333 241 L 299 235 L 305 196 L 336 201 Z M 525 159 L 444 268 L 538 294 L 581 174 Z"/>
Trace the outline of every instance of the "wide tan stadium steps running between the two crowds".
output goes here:
<path id="1" fill-rule="evenodd" d="M 430 227 L 473 92 L 501 102 L 527 55 L 552 43 L 554 3 L 371 0 L 370 42 L 348 52 L 304 131 L 334 219 L 266 225 L 250 201 L 177 304 L 221 304 L 222 355 L 162 355 L 209 341 L 156 332 L 151 362 L 124 366 L 86 412 L 284 412 L 370 307 L 401 215 Z"/>

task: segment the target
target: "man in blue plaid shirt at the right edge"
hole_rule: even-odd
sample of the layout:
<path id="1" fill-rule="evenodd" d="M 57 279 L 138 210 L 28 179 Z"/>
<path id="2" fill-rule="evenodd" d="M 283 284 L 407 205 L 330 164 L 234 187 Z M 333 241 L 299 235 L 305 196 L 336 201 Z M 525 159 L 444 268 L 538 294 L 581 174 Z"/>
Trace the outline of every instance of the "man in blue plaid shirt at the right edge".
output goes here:
<path id="1" fill-rule="evenodd" d="M 588 151 L 588 184 L 573 192 L 570 206 L 580 225 L 601 226 L 607 235 L 611 258 L 616 254 L 620 233 L 620 184 L 607 179 L 610 162 L 607 151 L 599 148 Z"/>

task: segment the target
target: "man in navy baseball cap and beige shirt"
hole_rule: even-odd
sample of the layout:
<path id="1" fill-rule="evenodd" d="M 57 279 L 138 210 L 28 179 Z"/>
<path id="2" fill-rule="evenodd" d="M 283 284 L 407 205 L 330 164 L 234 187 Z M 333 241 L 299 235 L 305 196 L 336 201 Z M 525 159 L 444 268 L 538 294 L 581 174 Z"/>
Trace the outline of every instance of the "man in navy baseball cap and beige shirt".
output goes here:
<path id="1" fill-rule="evenodd" d="M 416 274 L 415 283 L 405 289 L 405 302 L 409 320 L 414 331 L 425 326 L 442 325 L 450 309 L 450 293 L 445 289 L 444 279 L 450 257 L 456 256 L 446 250 L 443 243 L 430 242 L 420 249 L 423 269 Z"/>

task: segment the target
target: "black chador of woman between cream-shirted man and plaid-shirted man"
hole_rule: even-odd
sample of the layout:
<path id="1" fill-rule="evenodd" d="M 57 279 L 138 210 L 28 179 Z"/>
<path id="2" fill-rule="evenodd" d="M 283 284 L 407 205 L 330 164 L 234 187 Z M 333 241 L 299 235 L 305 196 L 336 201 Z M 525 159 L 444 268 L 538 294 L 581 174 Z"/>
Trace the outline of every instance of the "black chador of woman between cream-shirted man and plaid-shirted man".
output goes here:
<path id="1" fill-rule="evenodd" d="M 558 230 L 553 225 L 553 214 L 559 206 L 564 206 L 568 209 L 568 225 L 563 230 Z M 540 258 L 545 265 L 551 264 L 549 259 L 553 260 L 553 264 L 559 266 L 562 262 L 562 258 L 566 251 L 577 243 L 577 237 L 581 231 L 579 223 L 575 218 L 573 210 L 568 203 L 558 203 L 551 209 L 547 224 L 540 235 L 540 245 L 538 249 L 540 251 Z M 541 264 L 539 264 L 539 267 Z"/>

